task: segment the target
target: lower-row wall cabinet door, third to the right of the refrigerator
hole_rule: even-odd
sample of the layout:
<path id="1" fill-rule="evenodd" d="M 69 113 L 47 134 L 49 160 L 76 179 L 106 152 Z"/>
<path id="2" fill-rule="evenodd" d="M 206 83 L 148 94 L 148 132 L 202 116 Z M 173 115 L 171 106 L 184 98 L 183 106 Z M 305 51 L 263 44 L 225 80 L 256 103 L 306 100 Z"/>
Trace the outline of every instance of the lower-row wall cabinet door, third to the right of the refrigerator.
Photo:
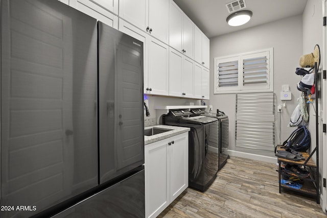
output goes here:
<path id="1" fill-rule="evenodd" d="M 194 98 L 193 91 L 193 60 L 186 58 L 183 59 L 183 75 L 182 75 L 182 90 L 184 97 Z"/>

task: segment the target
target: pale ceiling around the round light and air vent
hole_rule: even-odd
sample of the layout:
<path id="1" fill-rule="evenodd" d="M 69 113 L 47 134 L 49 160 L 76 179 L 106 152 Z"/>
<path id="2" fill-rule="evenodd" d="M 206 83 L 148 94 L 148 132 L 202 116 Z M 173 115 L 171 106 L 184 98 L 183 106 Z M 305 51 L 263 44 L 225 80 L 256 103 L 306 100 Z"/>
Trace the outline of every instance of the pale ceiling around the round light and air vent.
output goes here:
<path id="1" fill-rule="evenodd" d="M 202 32 L 208 37 L 231 33 L 267 22 L 302 14 L 307 0 L 245 0 L 246 8 L 253 12 L 251 20 L 240 27 L 226 23 L 229 15 L 226 4 L 232 0 L 174 0 Z"/>

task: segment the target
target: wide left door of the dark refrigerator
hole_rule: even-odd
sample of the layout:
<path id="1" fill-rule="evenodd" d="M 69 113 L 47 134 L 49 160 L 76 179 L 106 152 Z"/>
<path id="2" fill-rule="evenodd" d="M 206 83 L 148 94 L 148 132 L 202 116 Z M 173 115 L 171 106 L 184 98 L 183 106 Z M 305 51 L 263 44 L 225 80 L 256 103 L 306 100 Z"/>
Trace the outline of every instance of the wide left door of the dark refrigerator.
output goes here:
<path id="1" fill-rule="evenodd" d="M 98 183 L 96 20 L 58 1 L 2 8 L 1 200 L 27 216 Z"/>

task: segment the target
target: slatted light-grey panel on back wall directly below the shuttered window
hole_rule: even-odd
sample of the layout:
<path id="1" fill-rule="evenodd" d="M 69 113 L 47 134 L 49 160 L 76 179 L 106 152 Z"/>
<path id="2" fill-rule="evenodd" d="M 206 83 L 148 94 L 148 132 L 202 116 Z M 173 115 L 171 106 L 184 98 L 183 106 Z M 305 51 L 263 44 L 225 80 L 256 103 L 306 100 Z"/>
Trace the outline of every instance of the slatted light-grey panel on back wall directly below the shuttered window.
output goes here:
<path id="1" fill-rule="evenodd" d="M 236 147 L 274 151 L 273 93 L 236 94 Z"/>

